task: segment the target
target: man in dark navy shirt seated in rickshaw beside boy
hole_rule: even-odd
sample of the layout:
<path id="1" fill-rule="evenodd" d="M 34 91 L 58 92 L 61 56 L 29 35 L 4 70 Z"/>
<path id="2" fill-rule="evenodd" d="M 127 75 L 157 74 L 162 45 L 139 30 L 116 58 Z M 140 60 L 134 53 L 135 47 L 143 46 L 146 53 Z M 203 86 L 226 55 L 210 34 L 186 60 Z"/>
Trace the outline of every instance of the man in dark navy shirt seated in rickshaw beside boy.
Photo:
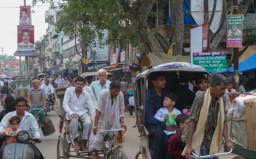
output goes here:
<path id="1" fill-rule="evenodd" d="M 169 93 L 165 88 L 165 74 L 156 72 L 151 74 L 153 87 L 146 93 L 145 101 L 145 126 L 153 137 L 154 159 L 164 159 L 167 154 L 167 135 L 164 130 L 174 131 L 174 126 L 166 126 L 164 122 L 157 120 L 156 111 L 163 108 L 164 95 Z"/>

